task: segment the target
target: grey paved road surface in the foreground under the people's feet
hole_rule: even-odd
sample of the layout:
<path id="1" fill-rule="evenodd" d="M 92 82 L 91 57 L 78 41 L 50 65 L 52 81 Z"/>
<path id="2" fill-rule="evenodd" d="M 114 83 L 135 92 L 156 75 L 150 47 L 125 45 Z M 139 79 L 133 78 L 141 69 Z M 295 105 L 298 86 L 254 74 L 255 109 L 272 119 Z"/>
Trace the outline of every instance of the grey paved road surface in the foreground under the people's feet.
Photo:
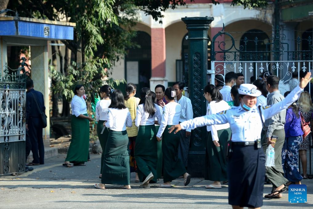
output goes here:
<path id="1" fill-rule="evenodd" d="M 31 172 L 0 177 L 0 208 L 231 208 L 228 186 L 205 189 L 212 182 L 203 178 L 192 178 L 188 186 L 177 179 L 172 181 L 172 188 L 156 188 L 156 184 L 141 189 L 132 173 L 131 190 L 121 189 L 121 185 L 95 189 L 94 184 L 101 182 L 101 155 L 91 154 L 86 166 L 73 168 L 62 166 L 65 157 L 58 154 L 45 160 L 45 165 L 33 166 Z M 262 208 L 313 208 L 313 180 L 303 180 L 302 184 L 307 185 L 307 203 L 289 203 L 285 191 L 280 199 L 264 199 Z M 270 191 L 271 185 L 264 185 L 264 194 Z"/>

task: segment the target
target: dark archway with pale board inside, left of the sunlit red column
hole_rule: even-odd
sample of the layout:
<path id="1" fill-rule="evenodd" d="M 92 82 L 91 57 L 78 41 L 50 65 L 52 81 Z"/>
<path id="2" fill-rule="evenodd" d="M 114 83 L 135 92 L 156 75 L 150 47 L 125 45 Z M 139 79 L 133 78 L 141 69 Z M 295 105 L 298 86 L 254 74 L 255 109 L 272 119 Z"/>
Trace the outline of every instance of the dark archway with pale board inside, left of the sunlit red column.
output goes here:
<path id="1" fill-rule="evenodd" d="M 125 78 L 127 83 L 134 83 L 137 89 L 150 87 L 151 78 L 151 36 L 138 31 L 132 41 L 139 48 L 127 50 L 125 55 Z M 138 91 L 139 92 L 139 91 Z"/>

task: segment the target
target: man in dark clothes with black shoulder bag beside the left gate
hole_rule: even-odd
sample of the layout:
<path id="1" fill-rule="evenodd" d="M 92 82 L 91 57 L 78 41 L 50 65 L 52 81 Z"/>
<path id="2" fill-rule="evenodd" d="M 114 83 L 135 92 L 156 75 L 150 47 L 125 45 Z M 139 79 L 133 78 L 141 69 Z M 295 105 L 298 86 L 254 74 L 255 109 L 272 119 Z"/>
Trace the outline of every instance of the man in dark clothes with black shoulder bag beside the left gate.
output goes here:
<path id="1" fill-rule="evenodd" d="M 44 107 L 44 95 L 34 90 L 34 83 L 31 79 L 27 79 L 26 89 L 26 129 L 28 130 L 33 153 L 33 162 L 27 165 L 44 164 L 43 128 L 40 117 L 41 112 L 38 110 L 38 106 L 42 112 L 46 109 Z"/>

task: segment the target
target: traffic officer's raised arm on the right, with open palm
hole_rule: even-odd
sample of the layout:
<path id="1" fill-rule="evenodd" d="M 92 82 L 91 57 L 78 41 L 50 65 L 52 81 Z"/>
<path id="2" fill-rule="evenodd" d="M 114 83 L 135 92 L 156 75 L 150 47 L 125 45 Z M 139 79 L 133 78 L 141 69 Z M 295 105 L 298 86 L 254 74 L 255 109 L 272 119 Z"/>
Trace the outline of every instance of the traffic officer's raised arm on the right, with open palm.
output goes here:
<path id="1" fill-rule="evenodd" d="M 278 102 L 270 107 L 269 106 L 262 107 L 261 112 L 264 116 L 264 119 L 271 118 L 273 115 L 276 115 L 282 110 L 287 109 L 289 105 L 297 101 L 300 97 L 301 92 L 303 91 L 305 86 L 310 82 L 310 80 L 311 80 L 311 73 L 308 72 L 304 76 L 304 78 L 301 78 L 299 86 L 295 87 L 294 90 L 292 90 L 285 99 L 283 99 L 281 102 Z"/>

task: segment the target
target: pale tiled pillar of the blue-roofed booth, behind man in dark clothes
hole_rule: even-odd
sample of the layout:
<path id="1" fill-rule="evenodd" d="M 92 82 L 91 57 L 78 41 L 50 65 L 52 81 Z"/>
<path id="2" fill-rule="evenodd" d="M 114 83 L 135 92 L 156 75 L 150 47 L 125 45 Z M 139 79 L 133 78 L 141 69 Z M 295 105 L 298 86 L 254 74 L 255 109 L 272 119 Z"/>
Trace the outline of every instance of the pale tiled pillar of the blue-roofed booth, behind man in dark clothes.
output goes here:
<path id="1" fill-rule="evenodd" d="M 31 46 L 31 79 L 34 81 L 34 89 L 44 95 L 46 107 L 47 127 L 44 128 L 43 138 L 45 147 L 50 145 L 50 114 L 49 114 L 49 73 L 48 73 L 48 45 Z"/>

